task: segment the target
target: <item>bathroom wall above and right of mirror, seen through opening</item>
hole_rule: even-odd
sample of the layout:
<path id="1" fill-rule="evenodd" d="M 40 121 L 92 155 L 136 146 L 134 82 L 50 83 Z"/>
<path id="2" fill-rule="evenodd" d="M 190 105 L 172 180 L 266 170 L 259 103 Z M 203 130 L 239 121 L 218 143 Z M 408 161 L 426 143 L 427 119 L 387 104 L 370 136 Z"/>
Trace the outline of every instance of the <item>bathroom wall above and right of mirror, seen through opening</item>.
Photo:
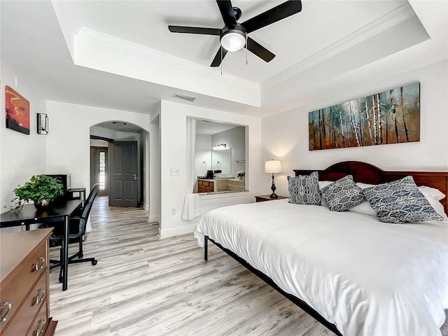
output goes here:
<path id="1" fill-rule="evenodd" d="M 244 127 L 233 127 L 230 130 L 219 132 L 211 137 L 212 143 L 223 142 L 228 148 L 232 148 L 231 172 L 230 175 L 238 178 L 239 170 L 246 170 L 244 163 L 232 163 L 235 160 L 244 160 L 246 158 L 246 130 Z"/>

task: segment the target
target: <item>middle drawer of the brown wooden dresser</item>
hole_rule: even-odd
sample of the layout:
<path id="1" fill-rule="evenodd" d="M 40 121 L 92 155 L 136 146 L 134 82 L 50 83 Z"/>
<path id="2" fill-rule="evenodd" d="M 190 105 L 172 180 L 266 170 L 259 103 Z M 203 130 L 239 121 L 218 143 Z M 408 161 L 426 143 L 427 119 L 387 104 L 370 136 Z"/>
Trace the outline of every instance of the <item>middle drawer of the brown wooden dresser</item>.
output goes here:
<path id="1" fill-rule="evenodd" d="M 33 321 L 34 316 L 36 316 L 39 309 L 43 310 L 43 313 L 46 316 L 46 321 L 48 318 L 48 293 L 46 293 L 46 290 L 46 276 L 45 274 L 42 274 L 29 295 L 25 298 L 25 302 L 23 302 L 22 307 L 20 307 L 17 314 L 15 314 L 13 323 L 10 323 L 2 336 L 25 335 L 27 330 L 30 328 L 31 321 Z M 28 321 L 28 323 L 26 323 L 26 321 Z"/>

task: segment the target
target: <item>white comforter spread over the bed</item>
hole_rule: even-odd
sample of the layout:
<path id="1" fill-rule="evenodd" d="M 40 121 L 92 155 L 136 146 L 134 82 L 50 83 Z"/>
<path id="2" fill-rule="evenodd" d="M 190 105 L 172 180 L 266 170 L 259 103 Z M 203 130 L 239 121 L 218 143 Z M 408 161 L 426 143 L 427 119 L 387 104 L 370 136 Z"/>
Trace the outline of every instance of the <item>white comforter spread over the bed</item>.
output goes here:
<path id="1" fill-rule="evenodd" d="M 389 224 L 288 200 L 214 209 L 195 230 L 237 253 L 343 335 L 440 335 L 448 222 Z"/>

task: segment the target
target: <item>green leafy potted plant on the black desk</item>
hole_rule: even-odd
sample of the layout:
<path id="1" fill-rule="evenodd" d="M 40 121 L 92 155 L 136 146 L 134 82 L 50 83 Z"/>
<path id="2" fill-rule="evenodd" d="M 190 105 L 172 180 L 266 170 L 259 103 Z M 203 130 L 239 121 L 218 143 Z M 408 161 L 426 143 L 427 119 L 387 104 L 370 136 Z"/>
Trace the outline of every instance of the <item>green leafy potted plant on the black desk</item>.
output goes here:
<path id="1" fill-rule="evenodd" d="M 17 197 L 13 211 L 20 212 L 22 207 L 28 201 L 34 201 L 36 209 L 51 207 L 52 200 L 55 197 L 64 195 L 64 185 L 62 182 L 45 174 L 34 175 L 23 186 L 14 189 Z"/>

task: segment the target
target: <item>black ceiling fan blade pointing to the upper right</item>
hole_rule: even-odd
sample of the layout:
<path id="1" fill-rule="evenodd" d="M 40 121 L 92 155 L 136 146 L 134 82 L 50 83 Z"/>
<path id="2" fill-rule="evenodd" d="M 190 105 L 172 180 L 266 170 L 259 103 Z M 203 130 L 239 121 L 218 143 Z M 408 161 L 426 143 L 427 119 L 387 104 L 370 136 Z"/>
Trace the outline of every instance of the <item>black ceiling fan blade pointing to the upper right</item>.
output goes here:
<path id="1" fill-rule="evenodd" d="M 290 0 L 281 3 L 272 9 L 266 10 L 265 13 L 254 16 L 253 18 L 241 23 L 248 33 L 255 31 L 274 22 L 280 21 L 288 16 L 299 13 L 302 10 L 302 1 Z"/>

